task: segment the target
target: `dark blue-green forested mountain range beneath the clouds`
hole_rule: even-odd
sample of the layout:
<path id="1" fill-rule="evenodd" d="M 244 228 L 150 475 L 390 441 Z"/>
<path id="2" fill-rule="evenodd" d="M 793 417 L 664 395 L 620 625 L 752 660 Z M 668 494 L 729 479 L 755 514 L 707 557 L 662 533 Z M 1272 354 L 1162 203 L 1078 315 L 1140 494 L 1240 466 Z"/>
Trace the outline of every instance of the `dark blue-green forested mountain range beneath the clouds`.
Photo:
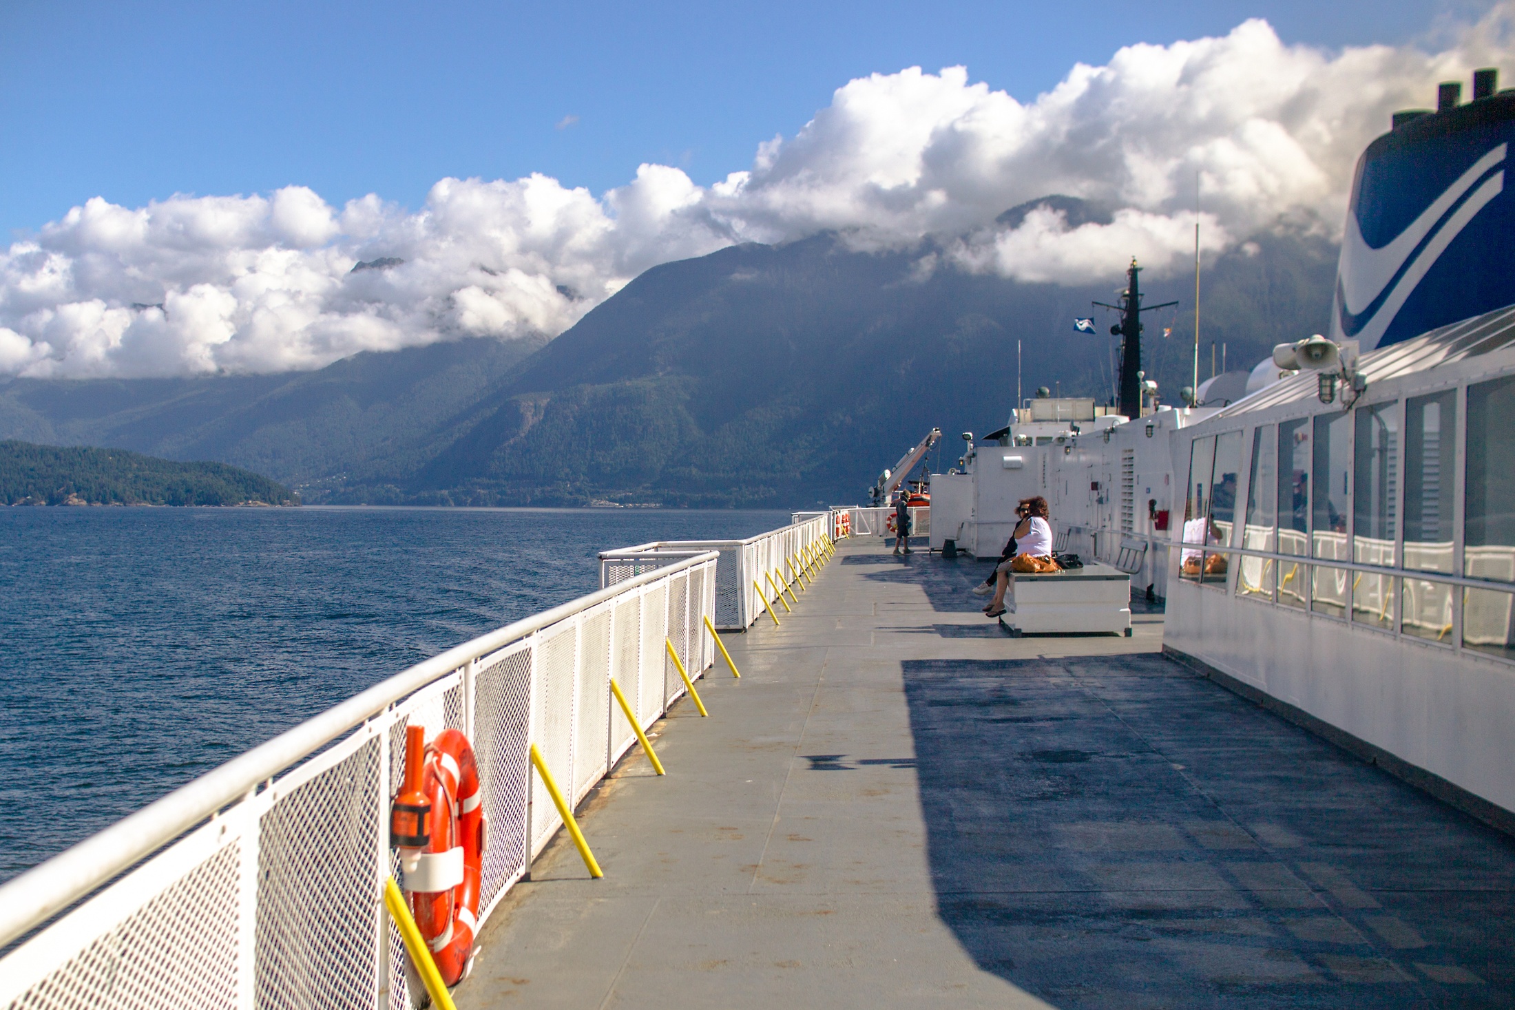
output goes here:
<path id="1" fill-rule="evenodd" d="M 1038 204 L 1070 226 L 1107 220 L 1048 197 L 998 227 Z M 462 339 L 283 376 L 12 379 L 0 438 L 223 460 L 311 503 L 850 503 L 932 427 L 948 435 L 933 460 L 945 469 L 957 432 L 1006 422 L 1018 383 L 1110 397 L 1114 318 L 1097 315 L 1095 336 L 1073 318 L 1115 301 L 1120 250 L 1109 280 L 1086 286 L 964 273 L 942 253 L 857 251 L 823 233 L 654 267 L 551 341 Z M 1336 247 L 1304 229 L 1207 265 L 1201 380 L 1212 341 L 1250 368 L 1318 332 L 1335 265 Z M 1148 304 L 1180 301 L 1150 313 L 1144 336 L 1148 377 L 1177 401 L 1192 274 L 1142 288 Z"/>

